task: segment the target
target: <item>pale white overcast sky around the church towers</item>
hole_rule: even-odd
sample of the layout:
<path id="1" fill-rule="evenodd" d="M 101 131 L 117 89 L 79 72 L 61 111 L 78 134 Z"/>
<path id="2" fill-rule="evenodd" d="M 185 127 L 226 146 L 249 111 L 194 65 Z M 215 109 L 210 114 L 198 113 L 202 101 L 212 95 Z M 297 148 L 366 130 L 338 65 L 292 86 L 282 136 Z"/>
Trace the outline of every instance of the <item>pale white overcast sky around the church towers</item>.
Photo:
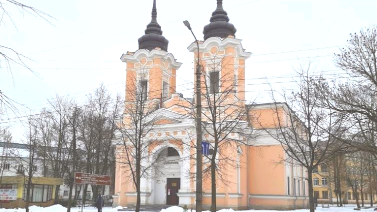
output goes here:
<path id="1" fill-rule="evenodd" d="M 83 102 L 100 83 L 124 94 L 125 63 L 122 53 L 138 49 L 137 38 L 150 22 L 152 0 L 21 0 L 53 18 L 40 17 L 8 7 L 11 18 L 0 25 L 0 45 L 11 47 L 33 61 L 35 72 L 14 65 L 11 73 L 0 60 L 1 92 L 14 101 L 18 116 L 36 114 L 47 107 L 46 99 L 70 95 Z M 157 22 L 169 40 L 168 52 L 182 66 L 177 71 L 176 90 L 192 95 L 193 53 L 187 47 L 193 37 L 183 25 L 188 20 L 196 37 L 203 38 L 215 0 L 156 0 Z M 317 71 L 339 72 L 333 53 L 346 44 L 349 33 L 371 26 L 377 20 L 376 0 L 223 0 L 236 38 L 251 57 L 246 60 L 246 98 L 271 101 L 266 91 L 292 88 L 294 68 L 311 61 Z M 283 53 L 282 53 L 283 52 Z M 11 75 L 12 74 L 12 75 Z M 276 77 L 279 78 L 271 78 Z M 330 76 L 328 76 L 330 77 Z M 284 83 L 283 83 L 284 82 Z M 15 139 L 20 126 L 14 114 L 0 117 L 11 125 Z M 25 120 L 21 118 L 20 120 Z"/>

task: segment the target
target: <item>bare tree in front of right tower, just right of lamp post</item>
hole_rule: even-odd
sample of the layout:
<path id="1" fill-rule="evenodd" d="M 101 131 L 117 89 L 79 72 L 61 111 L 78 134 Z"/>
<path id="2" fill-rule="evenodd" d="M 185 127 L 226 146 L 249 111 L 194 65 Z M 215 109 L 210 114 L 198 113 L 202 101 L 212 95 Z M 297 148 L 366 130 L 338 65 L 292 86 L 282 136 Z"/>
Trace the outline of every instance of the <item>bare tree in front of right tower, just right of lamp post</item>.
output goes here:
<path id="1" fill-rule="evenodd" d="M 203 178 L 208 177 L 211 182 L 211 212 L 216 211 L 216 179 L 224 185 L 231 183 L 227 180 L 230 171 L 227 167 L 234 169 L 239 166 L 239 154 L 252 133 L 249 108 L 238 96 L 243 92 L 240 82 L 244 76 L 236 76 L 229 71 L 233 70 L 233 60 L 234 57 L 214 54 L 206 60 L 207 67 L 202 77 L 201 128 L 207 134 L 205 139 L 210 146 L 210 152 L 204 154 L 209 165 L 204 164 Z M 191 116 L 196 117 L 196 114 L 191 113 Z"/>

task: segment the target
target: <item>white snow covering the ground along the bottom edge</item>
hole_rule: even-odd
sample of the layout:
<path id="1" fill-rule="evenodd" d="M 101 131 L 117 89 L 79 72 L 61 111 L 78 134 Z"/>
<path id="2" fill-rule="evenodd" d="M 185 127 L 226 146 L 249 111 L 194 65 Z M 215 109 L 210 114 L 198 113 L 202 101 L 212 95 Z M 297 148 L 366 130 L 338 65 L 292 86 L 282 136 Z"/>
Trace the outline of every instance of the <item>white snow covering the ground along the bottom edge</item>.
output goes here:
<path id="1" fill-rule="evenodd" d="M 331 207 L 329 209 L 317 207 L 315 210 L 316 212 L 354 212 L 353 211 L 354 206 L 347 206 L 347 207 Z M 361 209 L 362 212 L 372 212 L 375 207 L 369 208 L 369 209 Z M 118 209 L 121 209 L 121 207 L 117 208 L 111 208 L 111 207 L 104 207 L 102 209 L 102 212 L 117 212 Z M 268 210 L 249 210 L 249 211 L 233 211 L 231 209 L 223 209 L 218 212 L 308 212 L 309 210 L 302 209 L 302 210 L 295 210 L 295 211 L 268 211 Z M 25 212 L 25 209 L 0 209 L 0 212 Z M 60 206 L 60 205 L 54 205 L 46 208 L 41 208 L 37 206 L 31 206 L 29 207 L 29 212 L 66 212 L 66 208 Z M 71 208 L 71 212 L 81 212 L 81 208 Z M 82 212 L 97 212 L 97 209 L 94 207 L 85 207 L 82 209 Z M 180 207 L 170 207 L 166 210 L 161 210 L 161 212 L 183 212 L 183 209 Z M 191 210 L 188 210 L 187 212 L 191 212 Z M 192 210 L 192 212 L 195 212 Z M 208 211 L 204 211 L 208 212 Z"/>

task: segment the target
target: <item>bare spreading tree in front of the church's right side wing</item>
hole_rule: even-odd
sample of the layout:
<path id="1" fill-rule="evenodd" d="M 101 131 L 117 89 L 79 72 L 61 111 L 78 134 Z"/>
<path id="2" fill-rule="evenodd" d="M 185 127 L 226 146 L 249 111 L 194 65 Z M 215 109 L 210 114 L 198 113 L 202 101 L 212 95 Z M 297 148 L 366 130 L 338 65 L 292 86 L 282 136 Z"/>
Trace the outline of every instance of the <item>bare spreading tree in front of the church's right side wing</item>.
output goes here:
<path id="1" fill-rule="evenodd" d="M 297 71 L 297 89 L 290 95 L 285 92 L 282 98 L 285 104 L 274 102 L 274 127 L 264 130 L 284 149 L 286 157 L 281 162 L 300 164 L 307 170 L 310 212 L 314 212 L 313 182 L 311 173 L 319 164 L 325 163 L 336 151 L 343 148 L 335 136 L 341 130 L 342 117 L 322 108 L 323 98 L 317 87 L 326 87 L 321 75 L 314 74 L 310 65 Z M 285 106 L 284 106 L 285 105 Z M 275 129 L 275 130 L 273 130 Z"/>

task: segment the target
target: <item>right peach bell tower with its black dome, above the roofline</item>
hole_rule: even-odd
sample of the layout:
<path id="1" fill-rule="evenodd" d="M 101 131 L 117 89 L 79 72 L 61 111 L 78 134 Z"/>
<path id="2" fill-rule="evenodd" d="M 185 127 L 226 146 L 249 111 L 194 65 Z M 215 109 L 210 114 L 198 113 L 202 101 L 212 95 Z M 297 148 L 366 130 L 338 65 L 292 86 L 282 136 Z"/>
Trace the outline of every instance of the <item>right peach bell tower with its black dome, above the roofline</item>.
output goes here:
<path id="1" fill-rule="evenodd" d="M 235 32 L 234 25 L 229 23 L 229 17 L 222 8 L 222 0 L 217 0 L 210 23 L 203 29 L 204 41 L 199 41 L 199 49 L 195 42 L 188 47 L 195 53 L 195 60 L 199 52 L 203 107 L 208 98 L 244 107 L 245 60 L 251 53 L 242 48 L 241 40 L 235 38 Z"/>

